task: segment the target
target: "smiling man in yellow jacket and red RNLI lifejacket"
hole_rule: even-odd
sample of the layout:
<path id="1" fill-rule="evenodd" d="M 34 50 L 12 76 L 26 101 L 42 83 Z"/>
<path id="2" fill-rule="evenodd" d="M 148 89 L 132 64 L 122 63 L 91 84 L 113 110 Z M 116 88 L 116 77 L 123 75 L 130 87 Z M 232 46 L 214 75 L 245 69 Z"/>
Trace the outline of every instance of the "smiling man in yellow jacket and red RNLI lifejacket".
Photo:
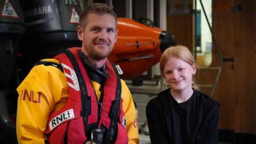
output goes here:
<path id="1" fill-rule="evenodd" d="M 83 10 L 82 49 L 39 61 L 17 89 L 19 143 L 139 142 L 131 93 L 107 59 L 117 33 L 113 8 Z"/>

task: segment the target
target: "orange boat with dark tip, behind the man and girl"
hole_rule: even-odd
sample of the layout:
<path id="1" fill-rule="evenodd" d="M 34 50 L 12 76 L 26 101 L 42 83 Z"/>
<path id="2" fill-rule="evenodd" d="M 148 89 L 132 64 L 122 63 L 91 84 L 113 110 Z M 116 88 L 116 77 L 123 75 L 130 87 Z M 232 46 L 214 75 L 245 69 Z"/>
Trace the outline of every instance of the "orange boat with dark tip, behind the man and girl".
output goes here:
<path id="1" fill-rule="evenodd" d="M 132 19 L 118 18 L 118 36 L 109 59 L 123 70 L 124 79 L 141 75 L 154 66 L 162 52 L 175 45 L 173 35 Z"/>

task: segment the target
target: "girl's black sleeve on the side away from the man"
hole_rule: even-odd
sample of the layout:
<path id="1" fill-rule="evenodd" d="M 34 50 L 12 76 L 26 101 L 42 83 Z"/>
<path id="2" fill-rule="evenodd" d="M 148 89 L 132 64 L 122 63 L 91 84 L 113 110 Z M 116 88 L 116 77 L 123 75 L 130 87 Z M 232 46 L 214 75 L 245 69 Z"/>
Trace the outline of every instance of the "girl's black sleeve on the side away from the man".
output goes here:
<path id="1" fill-rule="evenodd" d="M 219 122 L 219 103 L 214 102 L 207 116 L 206 125 L 203 128 L 203 134 L 200 143 L 217 144 L 218 143 L 218 122 Z"/>

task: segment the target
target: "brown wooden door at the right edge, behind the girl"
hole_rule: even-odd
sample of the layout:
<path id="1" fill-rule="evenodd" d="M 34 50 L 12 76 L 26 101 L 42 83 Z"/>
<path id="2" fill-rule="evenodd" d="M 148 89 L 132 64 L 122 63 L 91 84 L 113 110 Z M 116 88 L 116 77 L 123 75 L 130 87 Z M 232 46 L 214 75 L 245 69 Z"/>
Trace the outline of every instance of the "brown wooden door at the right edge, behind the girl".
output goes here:
<path id="1" fill-rule="evenodd" d="M 234 57 L 234 62 L 223 61 L 214 93 L 221 106 L 220 129 L 256 134 L 256 1 L 213 1 L 212 5 L 213 33 L 222 56 Z"/>

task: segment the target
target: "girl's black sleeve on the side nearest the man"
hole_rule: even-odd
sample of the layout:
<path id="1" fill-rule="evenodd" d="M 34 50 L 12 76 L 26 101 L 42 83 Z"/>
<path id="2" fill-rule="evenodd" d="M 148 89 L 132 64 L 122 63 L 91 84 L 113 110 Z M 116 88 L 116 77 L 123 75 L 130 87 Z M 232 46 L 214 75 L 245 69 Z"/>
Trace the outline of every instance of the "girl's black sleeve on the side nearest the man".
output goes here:
<path id="1" fill-rule="evenodd" d="M 152 144 L 170 143 L 164 135 L 166 132 L 163 131 L 163 124 L 161 123 L 161 119 L 164 117 L 161 117 L 159 113 L 158 103 L 156 103 L 156 101 L 153 100 L 150 100 L 146 107 L 146 116 L 148 122 L 150 141 Z"/>

